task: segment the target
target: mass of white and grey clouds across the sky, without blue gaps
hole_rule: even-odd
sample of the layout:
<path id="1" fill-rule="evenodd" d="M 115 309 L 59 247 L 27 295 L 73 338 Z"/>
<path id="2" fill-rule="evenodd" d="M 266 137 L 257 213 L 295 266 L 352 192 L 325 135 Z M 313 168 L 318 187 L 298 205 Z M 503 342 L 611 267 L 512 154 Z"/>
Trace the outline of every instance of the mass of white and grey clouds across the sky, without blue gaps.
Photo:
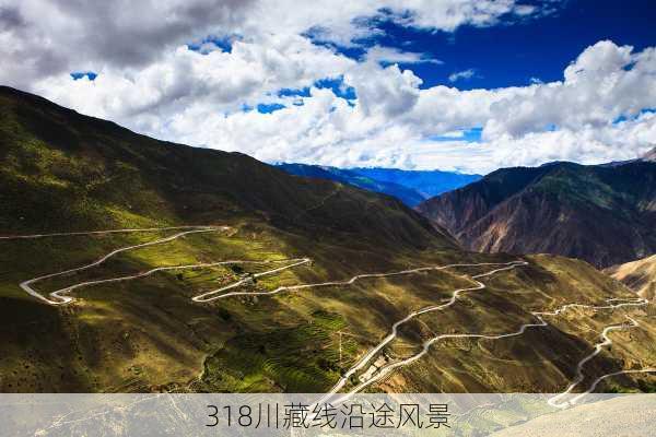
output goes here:
<path id="1" fill-rule="evenodd" d="M 460 91 L 422 88 L 411 68 L 397 64 L 444 68 L 422 54 L 375 46 L 358 62 L 301 35 L 320 23 L 325 38 L 354 44 L 372 32 L 363 17 L 379 14 L 383 4 L 399 23 L 445 31 L 541 13 L 511 0 L 342 8 L 328 0 L 235 0 L 220 8 L 195 0 L 160 8 L 140 2 L 138 14 L 126 5 L 93 4 L 25 0 L 0 7 L 0 56 L 8 60 L 0 81 L 157 138 L 265 161 L 484 173 L 554 160 L 625 160 L 656 144 L 656 116 L 641 114 L 656 107 L 655 48 L 636 52 L 599 42 L 573 60 L 562 81 Z M 187 49 L 207 35 L 238 37 L 230 52 Z M 97 79 L 69 76 L 86 70 Z M 323 78 L 343 78 L 356 98 L 313 86 Z M 304 87 L 309 96 L 278 95 Z M 258 103 L 285 107 L 242 110 Z M 620 116 L 628 120 L 617 122 Z M 462 141 L 472 127 L 483 127 L 481 142 Z"/>

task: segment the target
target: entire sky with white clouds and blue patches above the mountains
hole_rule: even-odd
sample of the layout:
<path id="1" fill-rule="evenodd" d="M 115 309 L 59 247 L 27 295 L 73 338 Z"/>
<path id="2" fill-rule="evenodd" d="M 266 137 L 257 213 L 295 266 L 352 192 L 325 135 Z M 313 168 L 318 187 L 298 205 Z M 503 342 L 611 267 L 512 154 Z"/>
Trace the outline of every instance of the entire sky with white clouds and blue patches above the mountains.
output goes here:
<path id="1" fill-rule="evenodd" d="M 656 146 L 626 0 L 0 0 L 0 84 L 258 160 L 485 174 Z"/>

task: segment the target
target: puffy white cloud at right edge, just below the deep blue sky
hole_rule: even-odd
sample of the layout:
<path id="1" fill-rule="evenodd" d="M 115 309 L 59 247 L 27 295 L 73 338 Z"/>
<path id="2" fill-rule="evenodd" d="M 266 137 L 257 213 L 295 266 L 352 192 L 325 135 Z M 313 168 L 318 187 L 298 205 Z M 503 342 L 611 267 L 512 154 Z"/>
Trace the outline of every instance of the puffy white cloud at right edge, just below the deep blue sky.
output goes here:
<path id="1" fill-rule="evenodd" d="M 586 48 L 564 71 L 564 81 L 500 92 L 484 135 L 520 137 L 546 128 L 601 128 L 636 116 L 656 103 L 656 52 L 604 40 Z"/>

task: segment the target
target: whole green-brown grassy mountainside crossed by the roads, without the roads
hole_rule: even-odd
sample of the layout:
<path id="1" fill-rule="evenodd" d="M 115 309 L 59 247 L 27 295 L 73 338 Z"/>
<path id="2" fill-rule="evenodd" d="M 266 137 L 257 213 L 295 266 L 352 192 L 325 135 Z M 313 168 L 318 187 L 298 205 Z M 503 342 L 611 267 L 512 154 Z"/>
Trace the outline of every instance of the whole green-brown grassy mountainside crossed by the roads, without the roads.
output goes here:
<path id="1" fill-rule="evenodd" d="M 312 267 L 250 286 L 259 290 L 410 265 L 512 259 L 462 252 L 389 198 L 291 177 L 244 155 L 161 143 L 7 88 L 0 93 L 0 153 L 8 163 L 1 169 L 3 234 L 188 223 L 234 228 L 121 253 L 93 271 L 38 283 L 45 292 L 85 279 L 226 259 L 313 258 Z M 65 307 L 38 304 L 17 286 L 114 248 L 171 234 L 0 241 L 0 390 L 326 390 L 394 321 L 447 298 L 453 288 L 470 283 L 461 274 L 481 270 L 211 304 L 189 298 L 234 281 L 230 267 L 82 288 L 74 293 L 79 299 Z M 583 262 L 550 257 L 532 258 L 529 269 L 500 274 L 490 284 L 489 292 L 468 295 L 448 311 L 403 328 L 388 353 L 415 351 L 427 330 L 505 330 L 525 320 L 527 308 L 630 295 Z M 564 320 L 508 342 L 441 345 L 438 354 L 375 389 L 557 390 L 566 385 L 576 357 L 596 341 L 588 328 L 623 317 L 583 316 L 590 327 Z M 653 333 L 635 335 L 642 338 L 630 351 L 620 350 L 622 359 L 653 362 L 653 349 L 641 346 L 654 344 Z M 620 364 L 617 356 L 602 356 L 596 365 Z M 623 385 L 635 387 L 629 378 Z"/>

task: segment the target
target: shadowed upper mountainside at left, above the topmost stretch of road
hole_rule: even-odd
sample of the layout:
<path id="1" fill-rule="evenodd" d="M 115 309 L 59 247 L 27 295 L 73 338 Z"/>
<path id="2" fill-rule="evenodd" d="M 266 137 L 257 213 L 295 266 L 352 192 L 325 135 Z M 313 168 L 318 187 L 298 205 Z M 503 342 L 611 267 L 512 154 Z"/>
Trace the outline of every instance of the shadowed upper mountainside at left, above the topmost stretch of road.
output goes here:
<path id="1" fill-rule="evenodd" d="M 399 201 L 297 178 L 249 156 L 175 145 L 0 88 L 5 233 L 257 218 L 393 245 L 440 244 Z"/>

